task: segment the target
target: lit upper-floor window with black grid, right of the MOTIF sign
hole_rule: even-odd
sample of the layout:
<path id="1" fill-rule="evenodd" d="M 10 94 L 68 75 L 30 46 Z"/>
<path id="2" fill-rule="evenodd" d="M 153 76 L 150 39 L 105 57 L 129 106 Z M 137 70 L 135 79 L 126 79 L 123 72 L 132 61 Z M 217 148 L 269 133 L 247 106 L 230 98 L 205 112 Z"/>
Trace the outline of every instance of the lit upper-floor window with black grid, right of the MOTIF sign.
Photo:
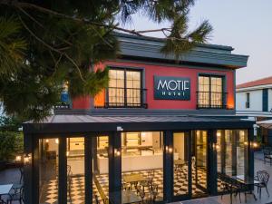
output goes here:
<path id="1" fill-rule="evenodd" d="M 199 75 L 198 108 L 226 108 L 223 77 Z"/>

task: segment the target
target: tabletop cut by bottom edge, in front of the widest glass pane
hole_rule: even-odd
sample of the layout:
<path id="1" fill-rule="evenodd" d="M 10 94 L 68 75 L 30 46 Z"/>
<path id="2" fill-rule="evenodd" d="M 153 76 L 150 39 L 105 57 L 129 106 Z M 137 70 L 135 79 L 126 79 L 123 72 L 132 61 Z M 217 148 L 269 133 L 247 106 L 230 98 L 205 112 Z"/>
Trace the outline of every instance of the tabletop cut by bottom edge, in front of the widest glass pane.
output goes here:
<path id="1" fill-rule="evenodd" d="M 120 198 L 121 196 L 121 198 Z M 112 204 L 131 204 L 131 203 L 141 203 L 141 197 L 137 196 L 132 190 L 121 190 L 117 192 L 112 192 L 110 201 Z"/>

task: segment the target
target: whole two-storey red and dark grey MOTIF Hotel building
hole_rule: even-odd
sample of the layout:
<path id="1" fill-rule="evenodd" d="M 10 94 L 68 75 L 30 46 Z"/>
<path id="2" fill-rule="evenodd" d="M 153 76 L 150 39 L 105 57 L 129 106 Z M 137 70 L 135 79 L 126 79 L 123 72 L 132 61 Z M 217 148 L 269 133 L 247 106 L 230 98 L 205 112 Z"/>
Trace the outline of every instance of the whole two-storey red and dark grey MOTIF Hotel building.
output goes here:
<path id="1" fill-rule="evenodd" d="M 199 44 L 177 62 L 160 40 L 117 36 L 119 59 L 96 66 L 110 67 L 107 89 L 24 123 L 25 203 L 170 202 L 226 193 L 222 176 L 253 176 L 254 122 L 235 115 L 248 56 Z"/>

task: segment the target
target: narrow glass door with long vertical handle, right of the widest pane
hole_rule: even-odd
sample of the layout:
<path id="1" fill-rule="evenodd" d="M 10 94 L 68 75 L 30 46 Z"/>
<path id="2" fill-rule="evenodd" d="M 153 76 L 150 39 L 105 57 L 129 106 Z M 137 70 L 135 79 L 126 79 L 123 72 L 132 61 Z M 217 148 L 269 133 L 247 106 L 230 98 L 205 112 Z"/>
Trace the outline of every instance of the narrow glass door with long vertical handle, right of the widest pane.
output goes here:
<path id="1" fill-rule="evenodd" d="M 207 192 L 208 131 L 195 131 L 192 140 L 192 195 L 198 197 Z"/>

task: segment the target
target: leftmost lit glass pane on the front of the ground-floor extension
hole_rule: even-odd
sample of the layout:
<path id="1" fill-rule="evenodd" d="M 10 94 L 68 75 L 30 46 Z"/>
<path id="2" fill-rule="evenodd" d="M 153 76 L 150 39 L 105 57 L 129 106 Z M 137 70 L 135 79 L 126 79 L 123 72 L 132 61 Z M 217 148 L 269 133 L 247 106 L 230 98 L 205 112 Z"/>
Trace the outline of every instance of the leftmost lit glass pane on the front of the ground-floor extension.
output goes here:
<path id="1" fill-rule="evenodd" d="M 58 203 L 58 139 L 40 139 L 39 154 L 39 203 Z"/>

